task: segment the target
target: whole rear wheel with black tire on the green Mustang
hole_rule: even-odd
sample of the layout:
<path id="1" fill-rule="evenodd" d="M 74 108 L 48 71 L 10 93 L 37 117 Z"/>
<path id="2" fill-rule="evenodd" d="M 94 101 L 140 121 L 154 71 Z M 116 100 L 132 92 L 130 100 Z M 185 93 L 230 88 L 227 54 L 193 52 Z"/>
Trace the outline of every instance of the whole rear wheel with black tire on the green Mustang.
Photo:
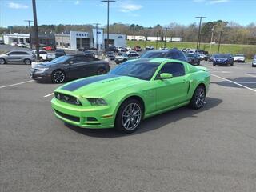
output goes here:
<path id="1" fill-rule="evenodd" d="M 200 109 L 205 102 L 206 99 L 206 89 L 204 86 L 198 86 L 194 90 L 193 97 L 190 100 L 190 107 L 194 110 Z"/>

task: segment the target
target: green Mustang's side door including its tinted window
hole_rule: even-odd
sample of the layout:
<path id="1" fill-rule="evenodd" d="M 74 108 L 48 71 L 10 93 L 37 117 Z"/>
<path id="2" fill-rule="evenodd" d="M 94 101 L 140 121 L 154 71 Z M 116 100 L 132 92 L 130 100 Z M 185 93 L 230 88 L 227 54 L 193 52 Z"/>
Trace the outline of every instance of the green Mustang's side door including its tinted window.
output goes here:
<path id="1" fill-rule="evenodd" d="M 160 74 L 173 75 L 170 79 L 160 79 Z M 168 62 L 159 71 L 155 83 L 157 86 L 157 110 L 178 106 L 186 102 L 189 82 L 186 80 L 186 70 L 182 62 Z"/>

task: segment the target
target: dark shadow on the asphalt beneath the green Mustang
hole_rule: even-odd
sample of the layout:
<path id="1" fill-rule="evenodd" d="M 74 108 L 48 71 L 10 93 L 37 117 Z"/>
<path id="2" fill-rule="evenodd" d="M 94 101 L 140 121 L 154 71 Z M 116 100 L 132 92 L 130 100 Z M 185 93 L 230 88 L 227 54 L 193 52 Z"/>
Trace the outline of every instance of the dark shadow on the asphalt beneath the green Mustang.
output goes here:
<path id="1" fill-rule="evenodd" d="M 210 110 L 211 108 L 218 106 L 220 103 L 222 103 L 221 99 L 206 98 L 206 105 L 203 106 L 202 109 L 200 109 L 200 110 L 192 110 L 192 109 L 184 106 L 177 110 L 172 110 L 172 111 L 166 112 L 164 114 L 158 114 L 157 116 L 154 116 L 153 118 L 148 118 L 145 121 L 143 121 L 142 125 L 133 134 L 121 134 L 115 129 L 90 130 L 90 129 L 79 128 L 77 126 L 71 126 L 66 123 L 65 123 L 65 125 L 68 128 L 70 128 L 71 130 L 78 132 L 79 134 L 85 134 L 90 137 L 97 137 L 97 138 L 124 137 L 124 136 L 130 136 L 130 135 L 134 135 L 134 134 L 142 134 L 142 133 L 150 131 L 150 130 L 156 130 L 156 129 L 159 129 L 162 126 L 165 126 L 172 122 L 177 122 L 179 120 L 182 120 L 182 118 L 188 118 L 188 117 L 197 118 L 196 114 L 201 113 L 205 110 Z"/>

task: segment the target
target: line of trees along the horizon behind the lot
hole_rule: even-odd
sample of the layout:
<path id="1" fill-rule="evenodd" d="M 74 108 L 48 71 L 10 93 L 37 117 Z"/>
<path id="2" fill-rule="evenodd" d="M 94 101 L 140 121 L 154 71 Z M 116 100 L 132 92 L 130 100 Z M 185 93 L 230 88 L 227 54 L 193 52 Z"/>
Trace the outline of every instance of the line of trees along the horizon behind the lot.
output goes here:
<path id="1" fill-rule="evenodd" d="M 39 33 L 69 33 L 70 30 L 90 31 L 92 25 L 42 25 L 38 26 Z M 106 29 L 106 26 L 104 26 Z M 167 30 L 166 30 L 167 29 Z M 9 34 L 9 29 L 0 27 L 0 34 Z M 29 33 L 28 26 L 13 26 L 12 33 Z M 197 42 L 198 24 L 188 26 L 178 23 L 170 23 L 167 26 L 156 25 L 145 27 L 136 24 L 114 23 L 110 25 L 110 33 L 126 35 L 142 35 L 146 37 L 180 37 L 182 42 Z M 256 45 L 256 23 L 242 26 L 235 22 L 222 20 L 202 23 L 201 42 L 210 42 L 213 34 L 213 42 L 218 42 L 222 34 L 222 43 Z"/>

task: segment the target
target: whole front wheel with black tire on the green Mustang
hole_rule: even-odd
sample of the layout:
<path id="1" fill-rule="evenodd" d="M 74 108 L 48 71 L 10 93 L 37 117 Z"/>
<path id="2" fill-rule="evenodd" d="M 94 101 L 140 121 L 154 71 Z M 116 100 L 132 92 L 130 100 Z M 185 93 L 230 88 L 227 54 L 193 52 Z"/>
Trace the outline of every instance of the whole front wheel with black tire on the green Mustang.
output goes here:
<path id="1" fill-rule="evenodd" d="M 138 102 L 137 99 L 130 98 L 123 102 L 119 107 L 114 126 L 123 134 L 131 134 L 135 130 L 138 130 L 138 127 L 142 121 L 142 117 L 142 104 Z"/>

